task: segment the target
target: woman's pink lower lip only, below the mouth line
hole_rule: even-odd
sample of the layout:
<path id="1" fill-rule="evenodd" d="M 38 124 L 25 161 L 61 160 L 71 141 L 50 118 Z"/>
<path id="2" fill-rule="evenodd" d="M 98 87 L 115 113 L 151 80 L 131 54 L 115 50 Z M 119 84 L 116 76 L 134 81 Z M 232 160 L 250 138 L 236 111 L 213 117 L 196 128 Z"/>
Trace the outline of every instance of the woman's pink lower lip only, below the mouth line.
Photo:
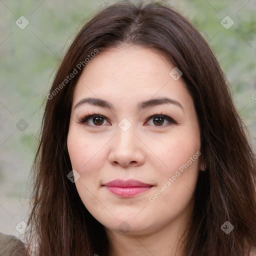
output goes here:
<path id="1" fill-rule="evenodd" d="M 119 186 L 105 186 L 111 193 L 118 196 L 131 197 L 140 193 L 143 193 L 151 188 L 151 186 L 131 186 L 131 187 L 119 187 Z"/>

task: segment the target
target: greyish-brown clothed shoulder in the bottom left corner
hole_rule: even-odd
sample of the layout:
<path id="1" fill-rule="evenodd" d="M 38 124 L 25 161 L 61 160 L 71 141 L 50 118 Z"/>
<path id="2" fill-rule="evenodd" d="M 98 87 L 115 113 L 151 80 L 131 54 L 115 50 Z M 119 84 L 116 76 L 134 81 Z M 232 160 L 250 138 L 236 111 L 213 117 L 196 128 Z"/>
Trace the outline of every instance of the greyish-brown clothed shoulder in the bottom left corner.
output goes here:
<path id="1" fill-rule="evenodd" d="M 17 237 L 0 232 L 0 255 L 21 256 L 25 253 L 25 245 Z"/>

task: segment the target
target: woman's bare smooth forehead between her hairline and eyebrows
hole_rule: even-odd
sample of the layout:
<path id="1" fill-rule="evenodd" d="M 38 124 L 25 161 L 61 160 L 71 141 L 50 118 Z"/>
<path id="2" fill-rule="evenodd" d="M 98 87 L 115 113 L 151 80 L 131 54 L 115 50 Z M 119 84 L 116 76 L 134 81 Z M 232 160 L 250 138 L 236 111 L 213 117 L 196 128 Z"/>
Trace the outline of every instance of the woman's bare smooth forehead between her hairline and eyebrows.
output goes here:
<path id="1" fill-rule="evenodd" d="M 162 53 L 149 48 L 125 45 L 99 51 L 84 67 L 75 85 L 73 102 L 84 96 L 108 101 L 118 97 L 123 103 L 154 95 L 190 100 L 182 79 L 174 80 L 170 76 L 173 68 Z"/>

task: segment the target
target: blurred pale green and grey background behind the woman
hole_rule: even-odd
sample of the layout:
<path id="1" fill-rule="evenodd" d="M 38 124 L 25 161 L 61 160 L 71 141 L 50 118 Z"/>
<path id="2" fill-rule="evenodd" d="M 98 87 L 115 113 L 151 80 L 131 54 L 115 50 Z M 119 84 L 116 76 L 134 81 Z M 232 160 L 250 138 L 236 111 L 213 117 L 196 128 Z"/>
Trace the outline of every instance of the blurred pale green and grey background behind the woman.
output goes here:
<path id="1" fill-rule="evenodd" d="M 0 0 L 0 231 L 4 233 L 19 236 L 15 226 L 27 216 L 27 181 L 38 142 L 41 104 L 56 68 L 83 23 L 113 2 Z M 162 2 L 182 12 L 210 44 L 255 146 L 256 1 Z M 23 29 L 17 25 L 25 24 L 20 16 L 29 22 Z M 226 29 L 221 20 L 234 24 Z"/>

